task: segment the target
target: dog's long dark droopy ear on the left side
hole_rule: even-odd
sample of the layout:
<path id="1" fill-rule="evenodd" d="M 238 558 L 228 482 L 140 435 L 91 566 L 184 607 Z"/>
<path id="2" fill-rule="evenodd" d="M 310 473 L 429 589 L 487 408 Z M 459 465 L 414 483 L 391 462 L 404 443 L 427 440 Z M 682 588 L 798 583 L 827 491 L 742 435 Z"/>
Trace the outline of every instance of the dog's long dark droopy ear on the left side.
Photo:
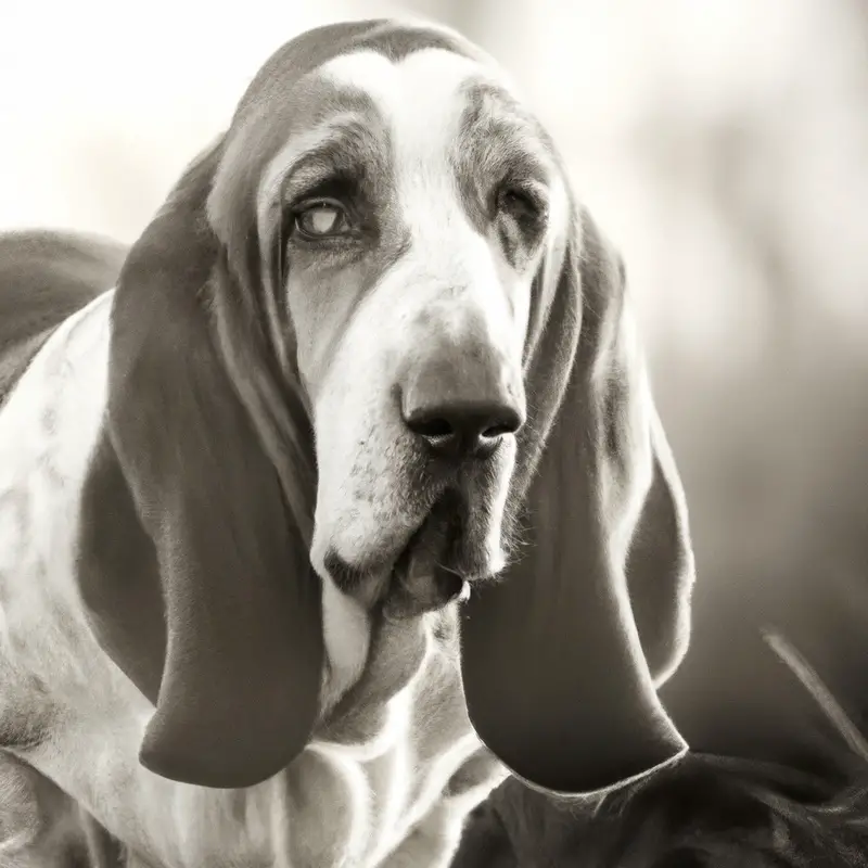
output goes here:
<path id="1" fill-rule="evenodd" d="M 80 582 L 103 648 L 156 706 L 141 762 L 243 787 L 307 743 L 323 647 L 299 498 L 245 399 L 275 363 L 244 314 L 259 290 L 208 224 L 219 155 L 189 169 L 120 275 Z"/>

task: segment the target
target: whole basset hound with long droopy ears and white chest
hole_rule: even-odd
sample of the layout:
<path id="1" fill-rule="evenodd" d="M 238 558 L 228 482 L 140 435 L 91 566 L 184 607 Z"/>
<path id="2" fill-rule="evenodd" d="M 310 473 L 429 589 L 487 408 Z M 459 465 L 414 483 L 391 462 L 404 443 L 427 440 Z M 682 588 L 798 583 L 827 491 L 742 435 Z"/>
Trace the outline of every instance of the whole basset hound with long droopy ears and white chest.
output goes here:
<path id="1" fill-rule="evenodd" d="M 508 770 L 684 754 L 693 560 L 624 269 L 481 50 L 308 31 L 123 267 L 0 251 L 10 864 L 85 816 L 137 866 L 445 866 Z"/>

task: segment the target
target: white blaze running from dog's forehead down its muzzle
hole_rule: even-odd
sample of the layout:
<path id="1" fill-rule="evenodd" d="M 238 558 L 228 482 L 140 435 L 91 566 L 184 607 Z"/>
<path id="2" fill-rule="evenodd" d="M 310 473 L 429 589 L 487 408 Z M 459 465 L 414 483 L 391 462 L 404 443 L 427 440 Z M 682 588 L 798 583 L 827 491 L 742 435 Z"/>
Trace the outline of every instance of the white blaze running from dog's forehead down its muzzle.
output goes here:
<path id="1" fill-rule="evenodd" d="M 387 181 L 409 235 L 407 252 L 354 312 L 314 401 L 320 475 L 311 560 L 327 575 L 330 549 L 349 563 L 387 559 L 422 518 L 405 490 L 412 480 L 401 474 L 410 446 L 392 404 L 396 362 L 417 357 L 436 335 L 460 345 L 474 331 L 520 370 L 531 276 L 514 272 L 471 225 L 451 162 L 467 108 L 462 89 L 492 81 L 490 69 L 427 49 L 397 63 L 355 52 L 318 75 L 362 90 L 384 119 L 394 170 Z M 432 319 L 427 333 L 413 327 L 423 311 Z M 494 570 L 503 564 L 500 525 L 514 454 L 512 443 L 505 446 L 487 545 Z"/>

